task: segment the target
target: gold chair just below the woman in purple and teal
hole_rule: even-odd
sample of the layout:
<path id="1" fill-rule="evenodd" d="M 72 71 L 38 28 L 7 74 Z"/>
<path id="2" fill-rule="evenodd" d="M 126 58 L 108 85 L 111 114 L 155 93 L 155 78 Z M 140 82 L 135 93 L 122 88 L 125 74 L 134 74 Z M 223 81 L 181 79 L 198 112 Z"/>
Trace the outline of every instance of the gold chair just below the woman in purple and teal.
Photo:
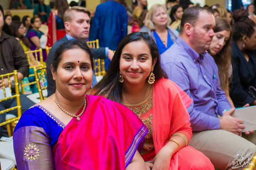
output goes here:
<path id="1" fill-rule="evenodd" d="M 39 52 L 39 56 L 38 56 L 38 52 Z M 42 67 L 44 64 L 43 62 L 43 53 L 42 53 L 42 49 L 39 48 L 38 50 L 33 50 L 33 51 L 26 51 L 26 58 L 27 61 L 30 65 L 30 69 L 33 69 L 34 67 Z M 38 61 L 38 58 L 40 61 Z M 28 77 L 32 77 L 35 76 L 34 72 L 32 74 L 30 74 Z M 33 82 L 29 82 L 29 83 L 24 83 L 24 80 L 20 81 L 20 86 L 21 86 L 21 92 L 22 94 L 26 94 L 25 93 L 25 86 L 29 86 L 32 84 L 36 84 L 36 81 Z"/>

